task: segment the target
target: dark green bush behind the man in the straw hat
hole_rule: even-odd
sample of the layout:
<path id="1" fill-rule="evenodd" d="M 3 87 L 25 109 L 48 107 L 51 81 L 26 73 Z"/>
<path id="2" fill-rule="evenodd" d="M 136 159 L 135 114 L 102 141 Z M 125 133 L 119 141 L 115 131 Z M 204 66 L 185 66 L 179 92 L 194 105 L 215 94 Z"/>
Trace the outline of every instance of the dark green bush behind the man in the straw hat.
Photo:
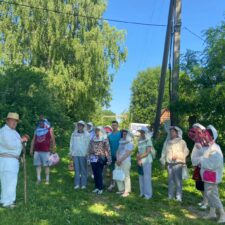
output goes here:
<path id="1" fill-rule="evenodd" d="M 33 135 L 40 114 L 44 114 L 55 128 L 56 136 L 64 134 L 71 123 L 66 109 L 52 94 L 46 73 L 26 66 L 10 67 L 0 72 L 1 104 L 0 117 L 18 112 L 21 117 L 18 129 Z M 3 125 L 4 120 L 1 121 Z"/>

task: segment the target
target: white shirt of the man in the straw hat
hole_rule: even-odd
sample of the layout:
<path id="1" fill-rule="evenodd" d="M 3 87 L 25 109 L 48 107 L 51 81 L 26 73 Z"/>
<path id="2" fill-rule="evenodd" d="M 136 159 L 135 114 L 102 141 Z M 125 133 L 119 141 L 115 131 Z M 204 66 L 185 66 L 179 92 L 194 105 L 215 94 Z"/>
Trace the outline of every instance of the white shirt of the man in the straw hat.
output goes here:
<path id="1" fill-rule="evenodd" d="M 11 129 L 8 125 L 0 129 L 0 154 L 19 156 L 22 148 L 21 137 L 16 130 Z"/>

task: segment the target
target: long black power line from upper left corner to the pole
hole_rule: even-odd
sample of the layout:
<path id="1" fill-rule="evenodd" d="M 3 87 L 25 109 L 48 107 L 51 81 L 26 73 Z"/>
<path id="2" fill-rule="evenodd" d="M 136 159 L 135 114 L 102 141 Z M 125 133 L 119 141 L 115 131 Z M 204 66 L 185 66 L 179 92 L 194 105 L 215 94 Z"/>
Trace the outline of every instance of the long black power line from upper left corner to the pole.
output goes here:
<path id="1" fill-rule="evenodd" d="M 31 6 L 31 5 L 16 3 L 16 2 L 8 2 L 8 1 L 0 1 L 0 2 L 5 3 L 5 4 L 10 4 L 10 5 L 17 5 L 17 6 L 21 6 L 21 7 L 43 10 L 43 11 L 46 11 L 46 12 L 52 12 L 52 13 L 57 13 L 57 14 L 62 14 L 62 15 L 69 15 L 69 16 L 74 16 L 74 17 L 81 17 L 81 18 L 86 18 L 86 19 L 103 20 L 103 21 L 108 21 L 108 22 L 141 25 L 141 26 L 166 27 L 165 24 L 142 23 L 142 22 L 136 22 L 136 21 L 117 20 L 117 19 L 110 19 L 110 18 L 98 18 L 98 17 L 94 17 L 94 16 L 73 14 L 73 13 L 69 13 L 69 12 L 62 12 L 62 11 L 59 11 L 59 10 L 53 10 L 53 9 L 48 9 L 48 8 L 44 8 L 44 7 Z"/>

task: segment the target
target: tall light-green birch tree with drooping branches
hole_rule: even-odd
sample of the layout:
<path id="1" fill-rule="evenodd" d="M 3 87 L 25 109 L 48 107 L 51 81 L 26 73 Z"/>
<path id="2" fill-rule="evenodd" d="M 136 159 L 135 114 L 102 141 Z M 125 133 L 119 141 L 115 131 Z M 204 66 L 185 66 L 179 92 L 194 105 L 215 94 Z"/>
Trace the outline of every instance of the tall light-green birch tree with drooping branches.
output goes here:
<path id="1" fill-rule="evenodd" d="M 95 19 L 102 17 L 105 1 L 20 3 L 0 4 L 1 65 L 41 68 L 66 115 L 72 120 L 91 118 L 99 105 L 111 100 L 109 68 L 118 70 L 126 58 L 124 32 Z"/>

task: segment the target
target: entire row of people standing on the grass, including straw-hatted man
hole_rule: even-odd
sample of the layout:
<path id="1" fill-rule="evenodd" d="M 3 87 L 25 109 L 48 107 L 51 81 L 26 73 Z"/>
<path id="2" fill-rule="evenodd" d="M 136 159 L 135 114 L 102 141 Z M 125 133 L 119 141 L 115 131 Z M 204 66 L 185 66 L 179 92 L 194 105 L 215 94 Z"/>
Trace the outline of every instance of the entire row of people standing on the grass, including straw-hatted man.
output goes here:
<path id="1" fill-rule="evenodd" d="M 6 125 L 0 129 L 0 182 L 3 207 L 13 207 L 16 199 L 17 175 L 19 170 L 19 156 L 22 145 L 28 141 L 28 136 L 22 138 L 16 132 L 19 122 L 17 113 L 9 113 Z M 136 164 L 139 174 L 140 197 L 151 199 L 152 191 L 152 163 L 155 149 L 147 127 L 139 130 Z M 187 169 L 186 158 L 189 155 L 186 142 L 182 138 L 182 130 L 171 126 L 164 142 L 160 162 L 168 171 L 168 199 L 182 201 L 183 174 Z M 201 124 L 194 124 L 189 130 L 189 137 L 195 142 L 191 153 L 194 166 L 193 179 L 197 190 L 201 191 L 202 208 L 209 205 L 210 213 L 206 219 L 216 218 L 216 210 L 220 217 L 218 223 L 225 223 L 225 212 L 218 194 L 218 184 L 223 175 L 223 154 L 216 139 L 218 133 L 210 125 L 207 128 Z M 50 149 L 55 152 L 55 137 L 50 123 L 41 117 L 35 129 L 31 142 L 30 153 L 34 153 L 34 166 L 37 171 L 37 183 L 41 183 L 41 168 L 45 167 L 46 180 L 49 184 L 48 159 Z M 111 182 L 108 187 L 112 191 L 117 185 L 117 193 L 128 197 L 131 192 L 131 154 L 134 150 L 133 135 L 128 129 L 119 130 L 117 121 L 112 126 L 94 127 L 91 122 L 79 121 L 75 125 L 70 139 L 69 156 L 74 164 L 74 189 L 86 189 L 88 182 L 88 164 L 91 165 L 95 187 L 94 193 L 103 193 L 103 171 L 108 165 L 111 169 Z M 121 170 L 124 178 L 113 179 L 115 170 Z"/>

